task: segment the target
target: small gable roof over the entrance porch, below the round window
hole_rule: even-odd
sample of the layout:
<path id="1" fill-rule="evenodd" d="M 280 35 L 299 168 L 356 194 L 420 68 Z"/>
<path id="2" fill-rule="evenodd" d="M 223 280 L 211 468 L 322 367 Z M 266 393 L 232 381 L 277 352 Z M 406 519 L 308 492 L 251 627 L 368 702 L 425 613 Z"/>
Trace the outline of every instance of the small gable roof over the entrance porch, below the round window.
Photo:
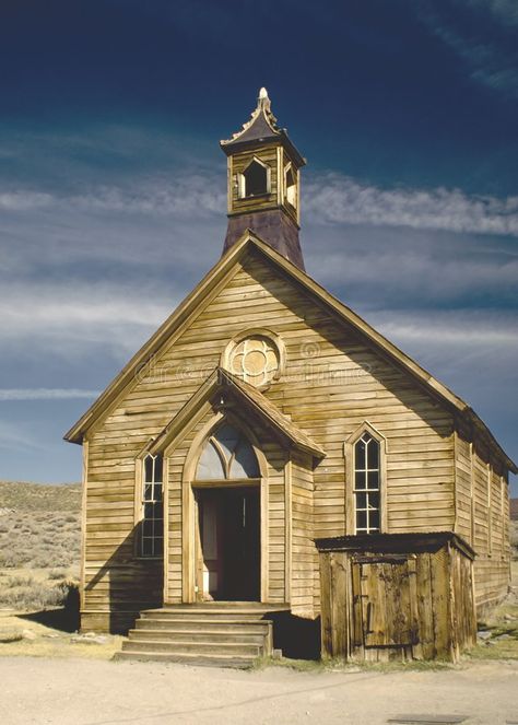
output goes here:
<path id="1" fill-rule="evenodd" d="M 223 395 L 224 391 L 224 395 Z M 222 394 L 225 397 L 228 393 L 237 398 L 245 407 L 257 413 L 262 422 L 289 443 L 290 446 L 305 451 L 316 458 L 323 458 L 326 452 L 321 446 L 311 441 L 309 435 L 301 431 L 276 406 L 268 400 L 257 388 L 244 383 L 238 377 L 224 370 L 215 367 L 209 377 L 201 384 L 195 395 L 186 405 L 172 418 L 167 425 L 156 436 L 148 447 L 151 454 L 164 451 L 176 435 L 184 430 L 186 424 L 192 419 L 197 410 L 213 397 L 215 394 Z"/>

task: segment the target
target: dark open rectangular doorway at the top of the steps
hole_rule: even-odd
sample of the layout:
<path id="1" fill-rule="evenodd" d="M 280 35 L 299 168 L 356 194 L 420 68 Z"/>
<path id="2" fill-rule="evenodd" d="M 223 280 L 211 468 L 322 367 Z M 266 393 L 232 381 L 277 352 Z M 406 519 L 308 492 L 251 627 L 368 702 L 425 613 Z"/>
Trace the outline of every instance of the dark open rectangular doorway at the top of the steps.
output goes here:
<path id="1" fill-rule="evenodd" d="M 260 600 L 260 487 L 211 487 L 198 503 L 199 600 Z"/>

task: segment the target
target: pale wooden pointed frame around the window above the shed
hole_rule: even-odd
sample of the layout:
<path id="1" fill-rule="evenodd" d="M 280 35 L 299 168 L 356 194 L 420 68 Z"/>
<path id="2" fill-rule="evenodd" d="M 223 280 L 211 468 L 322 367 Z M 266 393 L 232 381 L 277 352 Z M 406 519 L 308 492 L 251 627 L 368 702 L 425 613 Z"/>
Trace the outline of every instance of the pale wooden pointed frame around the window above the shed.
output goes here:
<path id="1" fill-rule="evenodd" d="M 356 527 L 356 484 L 355 484 L 355 446 L 360 438 L 367 433 L 379 445 L 378 460 L 378 492 L 379 492 L 379 531 L 361 531 Z M 343 454 L 345 458 L 345 534 L 354 536 L 370 536 L 388 533 L 387 515 L 387 438 L 368 421 L 364 421 L 344 442 Z M 368 492 L 365 489 L 365 492 Z"/>

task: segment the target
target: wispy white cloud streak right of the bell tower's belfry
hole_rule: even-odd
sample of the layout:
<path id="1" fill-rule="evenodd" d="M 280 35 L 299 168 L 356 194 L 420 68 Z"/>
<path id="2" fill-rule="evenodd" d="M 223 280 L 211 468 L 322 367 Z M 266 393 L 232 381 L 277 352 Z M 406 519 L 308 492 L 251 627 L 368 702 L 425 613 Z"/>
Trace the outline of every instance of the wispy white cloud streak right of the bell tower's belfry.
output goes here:
<path id="1" fill-rule="evenodd" d="M 306 213 L 322 222 L 518 235 L 518 196 L 468 196 L 460 189 L 380 189 L 330 173 L 305 191 Z"/>

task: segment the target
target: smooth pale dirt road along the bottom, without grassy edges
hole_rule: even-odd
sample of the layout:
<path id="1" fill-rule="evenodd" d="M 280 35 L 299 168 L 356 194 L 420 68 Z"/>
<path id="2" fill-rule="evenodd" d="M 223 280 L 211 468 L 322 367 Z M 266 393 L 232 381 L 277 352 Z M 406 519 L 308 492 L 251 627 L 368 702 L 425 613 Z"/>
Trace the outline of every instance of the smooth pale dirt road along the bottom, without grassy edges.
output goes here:
<path id="1" fill-rule="evenodd" d="M 381 725 L 409 713 L 518 723 L 518 662 L 322 674 L 0 658 L 2 725 Z"/>

